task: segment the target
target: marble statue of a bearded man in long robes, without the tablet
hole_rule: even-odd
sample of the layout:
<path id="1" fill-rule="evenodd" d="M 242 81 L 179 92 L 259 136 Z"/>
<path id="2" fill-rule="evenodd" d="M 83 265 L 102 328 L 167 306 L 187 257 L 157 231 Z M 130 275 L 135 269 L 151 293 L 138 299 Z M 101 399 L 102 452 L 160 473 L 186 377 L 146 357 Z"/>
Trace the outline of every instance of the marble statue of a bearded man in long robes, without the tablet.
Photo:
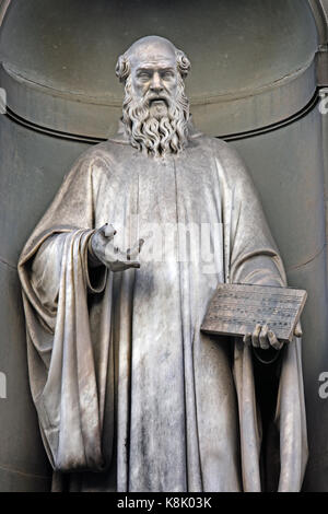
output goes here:
<path id="1" fill-rule="evenodd" d="M 157 36 L 119 57 L 120 129 L 81 155 L 20 258 L 54 490 L 302 484 L 301 328 L 283 348 L 267 326 L 244 340 L 200 332 L 218 283 L 282 287 L 285 274 L 239 156 L 192 126 L 189 68 Z M 200 226 L 214 250 L 194 258 Z"/>

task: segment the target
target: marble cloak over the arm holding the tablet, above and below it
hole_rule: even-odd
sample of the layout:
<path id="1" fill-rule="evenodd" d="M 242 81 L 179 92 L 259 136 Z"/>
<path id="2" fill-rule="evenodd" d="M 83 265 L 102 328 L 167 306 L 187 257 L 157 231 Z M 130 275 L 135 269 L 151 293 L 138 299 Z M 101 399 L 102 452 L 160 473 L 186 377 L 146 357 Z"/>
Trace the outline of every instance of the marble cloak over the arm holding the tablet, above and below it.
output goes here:
<path id="1" fill-rule="evenodd" d="M 224 185 L 225 281 L 285 287 L 283 264 L 257 191 L 243 161 L 231 145 L 225 147 L 223 160 L 216 160 L 216 170 Z M 308 455 L 301 339 L 294 337 L 291 343 L 285 344 L 281 358 L 274 417 L 280 434 L 278 490 L 300 491 Z M 244 491 L 261 491 L 261 427 L 255 394 L 253 350 L 239 338 L 235 340 L 234 378 L 239 409 Z"/>

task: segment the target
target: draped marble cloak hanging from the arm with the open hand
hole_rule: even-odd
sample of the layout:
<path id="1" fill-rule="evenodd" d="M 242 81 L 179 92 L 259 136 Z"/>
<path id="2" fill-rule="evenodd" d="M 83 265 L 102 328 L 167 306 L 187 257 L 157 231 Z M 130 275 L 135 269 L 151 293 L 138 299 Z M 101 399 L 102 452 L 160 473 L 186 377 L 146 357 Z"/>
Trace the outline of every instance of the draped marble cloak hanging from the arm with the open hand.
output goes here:
<path id="1" fill-rule="evenodd" d="M 61 471 L 106 465 L 102 423 L 109 330 L 95 348 L 87 305 L 87 293 L 101 295 L 107 274 L 104 267 L 93 277 L 87 269 L 96 159 L 95 152 L 79 159 L 19 261 L 32 395 L 49 460 Z"/>

